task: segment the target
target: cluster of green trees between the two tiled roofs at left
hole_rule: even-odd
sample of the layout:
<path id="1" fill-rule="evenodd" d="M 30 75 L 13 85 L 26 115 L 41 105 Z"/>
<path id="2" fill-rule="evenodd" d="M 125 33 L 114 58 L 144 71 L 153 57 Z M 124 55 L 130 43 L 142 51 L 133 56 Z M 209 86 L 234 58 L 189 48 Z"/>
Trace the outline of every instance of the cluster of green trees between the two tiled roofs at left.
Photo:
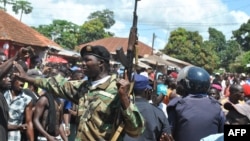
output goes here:
<path id="1" fill-rule="evenodd" d="M 52 24 L 33 28 L 62 47 L 74 50 L 80 44 L 113 36 L 113 33 L 105 29 L 110 28 L 114 23 L 113 12 L 105 9 L 91 13 L 89 20 L 80 26 L 66 20 L 56 19 Z"/>

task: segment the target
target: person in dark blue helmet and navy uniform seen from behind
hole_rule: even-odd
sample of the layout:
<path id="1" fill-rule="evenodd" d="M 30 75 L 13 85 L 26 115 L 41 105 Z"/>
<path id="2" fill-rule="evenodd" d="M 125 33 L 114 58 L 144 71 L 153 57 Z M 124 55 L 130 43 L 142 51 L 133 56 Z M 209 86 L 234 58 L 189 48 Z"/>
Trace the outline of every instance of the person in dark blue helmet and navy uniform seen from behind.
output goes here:
<path id="1" fill-rule="evenodd" d="M 199 141 L 211 134 L 222 133 L 225 115 L 220 104 L 208 96 L 210 75 L 197 66 L 184 67 L 178 73 L 177 93 L 167 107 L 175 141 Z"/>

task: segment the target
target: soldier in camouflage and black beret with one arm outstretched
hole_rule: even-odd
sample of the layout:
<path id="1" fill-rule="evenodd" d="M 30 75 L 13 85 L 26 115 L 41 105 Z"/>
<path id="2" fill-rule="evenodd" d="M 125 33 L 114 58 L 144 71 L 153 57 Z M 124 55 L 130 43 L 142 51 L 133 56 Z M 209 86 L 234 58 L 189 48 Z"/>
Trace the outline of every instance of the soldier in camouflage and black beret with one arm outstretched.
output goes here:
<path id="1" fill-rule="evenodd" d="M 103 46 L 85 46 L 80 51 L 87 81 L 68 81 L 60 75 L 31 78 L 16 64 L 19 79 L 79 105 L 77 141 L 110 140 L 122 121 L 123 132 L 135 137 L 144 130 L 144 120 L 128 97 L 129 82 L 109 75 L 110 54 Z M 118 140 L 122 140 L 122 133 Z"/>

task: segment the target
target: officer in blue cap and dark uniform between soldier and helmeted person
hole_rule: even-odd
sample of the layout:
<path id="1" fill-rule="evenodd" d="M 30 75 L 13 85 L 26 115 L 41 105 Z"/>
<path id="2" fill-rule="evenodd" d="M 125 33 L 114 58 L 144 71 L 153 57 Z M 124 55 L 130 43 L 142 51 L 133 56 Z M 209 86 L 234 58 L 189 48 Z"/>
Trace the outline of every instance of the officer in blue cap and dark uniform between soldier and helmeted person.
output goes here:
<path id="1" fill-rule="evenodd" d="M 147 77 L 139 74 L 134 75 L 135 105 L 145 119 L 145 131 L 137 138 L 125 136 L 124 141 L 172 141 L 168 119 L 163 111 L 148 102 L 152 94 Z M 164 136 L 166 135 L 166 139 Z"/>

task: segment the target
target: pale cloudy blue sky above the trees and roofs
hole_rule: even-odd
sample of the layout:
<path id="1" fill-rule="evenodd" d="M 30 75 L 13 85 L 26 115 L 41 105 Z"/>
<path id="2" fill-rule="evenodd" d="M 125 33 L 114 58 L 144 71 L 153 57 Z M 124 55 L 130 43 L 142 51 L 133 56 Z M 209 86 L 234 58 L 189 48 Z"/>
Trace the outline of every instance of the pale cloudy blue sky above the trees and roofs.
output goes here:
<path id="1" fill-rule="evenodd" d="M 54 19 L 82 25 L 87 16 L 97 10 L 114 12 L 115 25 L 110 29 L 116 37 L 128 37 L 132 25 L 134 0 L 28 0 L 33 12 L 23 15 L 29 26 L 51 24 Z M 231 32 L 250 18 L 250 0 L 141 0 L 137 7 L 139 40 L 163 49 L 171 31 L 183 27 L 199 31 L 208 38 L 208 27 L 222 31 L 227 39 Z M 7 11 L 19 19 L 11 8 Z"/>

